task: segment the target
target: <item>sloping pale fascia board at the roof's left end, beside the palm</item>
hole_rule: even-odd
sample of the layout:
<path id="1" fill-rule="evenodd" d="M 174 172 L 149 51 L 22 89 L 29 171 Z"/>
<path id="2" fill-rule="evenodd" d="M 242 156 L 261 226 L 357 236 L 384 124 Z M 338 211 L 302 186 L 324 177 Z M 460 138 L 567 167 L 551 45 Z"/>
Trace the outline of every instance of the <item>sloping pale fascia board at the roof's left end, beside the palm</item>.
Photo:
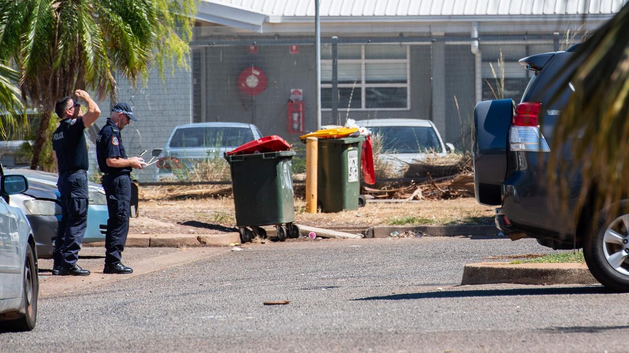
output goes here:
<path id="1" fill-rule="evenodd" d="M 267 21 L 263 13 L 204 1 L 198 5 L 195 18 L 256 32 L 262 32 L 262 25 Z"/>

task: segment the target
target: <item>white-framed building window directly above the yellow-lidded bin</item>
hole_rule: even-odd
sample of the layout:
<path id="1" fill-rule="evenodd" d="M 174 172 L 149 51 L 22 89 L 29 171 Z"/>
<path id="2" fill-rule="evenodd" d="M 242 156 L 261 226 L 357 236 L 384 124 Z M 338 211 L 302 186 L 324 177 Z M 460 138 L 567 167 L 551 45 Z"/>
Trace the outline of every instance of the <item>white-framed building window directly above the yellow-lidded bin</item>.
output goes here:
<path id="1" fill-rule="evenodd" d="M 321 107 L 332 107 L 331 45 L 321 48 Z M 338 109 L 410 109 L 409 46 L 338 45 Z"/>

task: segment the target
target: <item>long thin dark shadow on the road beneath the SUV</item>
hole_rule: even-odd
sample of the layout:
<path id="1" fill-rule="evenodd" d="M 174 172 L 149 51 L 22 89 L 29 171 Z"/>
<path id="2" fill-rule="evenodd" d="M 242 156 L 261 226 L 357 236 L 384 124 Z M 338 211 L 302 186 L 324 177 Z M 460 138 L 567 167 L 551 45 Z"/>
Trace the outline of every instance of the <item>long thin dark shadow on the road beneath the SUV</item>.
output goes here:
<path id="1" fill-rule="evenodd" d="M 566 295 L 566 294 L 604 294 L 613 293 L 603 286 L 574 286 L 550 288 L 511 288 L 504 290 L 450 290 L 429 291 L 425 293 L 407 293 L 383 296 L 368 296 L 352 300 L 406 300 L 406 299 L 440 299 L 465 298 L 474 296 L 521 296 L 521 295 Z"/>

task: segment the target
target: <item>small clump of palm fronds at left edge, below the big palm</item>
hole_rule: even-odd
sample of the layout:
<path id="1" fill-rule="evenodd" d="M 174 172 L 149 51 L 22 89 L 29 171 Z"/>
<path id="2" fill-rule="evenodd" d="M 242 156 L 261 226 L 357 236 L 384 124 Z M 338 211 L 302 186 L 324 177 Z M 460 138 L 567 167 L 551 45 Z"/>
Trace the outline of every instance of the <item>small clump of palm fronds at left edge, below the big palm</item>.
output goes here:
<path id="1" fill-rule="evenodd" d="M 26 114 L 18 114 L 24 106 L 20 99 L 18 87 L 14 85 L 19 79 L 19 73 L 13 68 L 0 62 L 0 134 L 6 139 L 6 129 L 26 125 Z"/>

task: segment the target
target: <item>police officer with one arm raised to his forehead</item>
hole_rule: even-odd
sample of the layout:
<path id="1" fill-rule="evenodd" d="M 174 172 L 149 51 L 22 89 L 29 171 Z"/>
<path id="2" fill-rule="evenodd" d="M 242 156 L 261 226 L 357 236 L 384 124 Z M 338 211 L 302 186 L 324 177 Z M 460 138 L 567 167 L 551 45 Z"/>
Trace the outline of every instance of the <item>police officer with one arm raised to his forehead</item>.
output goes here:
<path id="1" fill-rule="evenodd" d="M 84 129 L 101 114 L 96 102 L 84 90 L 74 95 L 85 100 L 87 112 L 81 115 L 81 104 L 72 97 L 63 97 L 55 104 L 61 119 L 52 136 L 52 148 L 59 176 L 57 188 L 61 198 L 62 216 L 53 251 L 52 274 L 87 276 L 89 271 L 77 265 L 81 241 L 87 227 L 87 143 Z"/>

